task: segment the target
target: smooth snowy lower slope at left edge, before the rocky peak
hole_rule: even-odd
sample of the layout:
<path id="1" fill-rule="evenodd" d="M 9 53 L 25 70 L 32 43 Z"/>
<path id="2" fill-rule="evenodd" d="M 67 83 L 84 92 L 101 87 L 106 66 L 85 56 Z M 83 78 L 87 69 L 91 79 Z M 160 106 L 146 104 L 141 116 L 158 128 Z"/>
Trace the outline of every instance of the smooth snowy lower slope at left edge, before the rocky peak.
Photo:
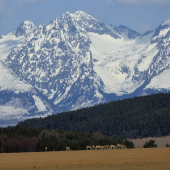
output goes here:
<path id="1" fill-rule="evenodd" d="M 41 94 L 0 61 L 0 125 L 12 125 L 52 113 L 51 106 Z"/>

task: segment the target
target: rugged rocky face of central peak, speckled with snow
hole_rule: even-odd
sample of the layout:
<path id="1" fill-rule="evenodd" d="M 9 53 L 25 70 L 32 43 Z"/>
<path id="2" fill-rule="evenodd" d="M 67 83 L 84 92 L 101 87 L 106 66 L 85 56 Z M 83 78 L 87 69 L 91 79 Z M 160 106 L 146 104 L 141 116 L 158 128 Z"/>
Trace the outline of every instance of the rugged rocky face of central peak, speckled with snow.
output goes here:
<path id="1" fill-rule="evenodd" d="M 83 13 L 81 20 L 75 17 L 72 21 L 73 17 L 66 13 L 48 26 L 40 25 L 7 58 L 17 75 L 55 105 L 69 109 L 102 102 L 99 91 L 103 82 L 93 70 L 90 39 L 84 28 L 74 26 L 75 21 L 81 21 L 81 25 L 84 18 L 88 17 Z M 98 24 L 89 16 L 86 27 L 90 22 Z"/>

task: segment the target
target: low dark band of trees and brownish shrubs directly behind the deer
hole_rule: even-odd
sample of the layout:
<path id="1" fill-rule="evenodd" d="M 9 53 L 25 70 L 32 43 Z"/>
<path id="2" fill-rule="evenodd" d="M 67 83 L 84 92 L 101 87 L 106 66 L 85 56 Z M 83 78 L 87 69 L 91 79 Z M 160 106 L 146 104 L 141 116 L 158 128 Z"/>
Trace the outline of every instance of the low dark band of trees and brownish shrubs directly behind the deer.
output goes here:
<path id="1" fill-rule="evenodd" d="M 129 140 L 106 138 L 100 132 L 72 132 L 59 129 L 37 129 L 29 127 L 0 128 L 0 152 L 42 152 L 62 151 L 69 146 L 71 150 L 85 150 L 87 145 L 124 144 L 133 148 Z"/>

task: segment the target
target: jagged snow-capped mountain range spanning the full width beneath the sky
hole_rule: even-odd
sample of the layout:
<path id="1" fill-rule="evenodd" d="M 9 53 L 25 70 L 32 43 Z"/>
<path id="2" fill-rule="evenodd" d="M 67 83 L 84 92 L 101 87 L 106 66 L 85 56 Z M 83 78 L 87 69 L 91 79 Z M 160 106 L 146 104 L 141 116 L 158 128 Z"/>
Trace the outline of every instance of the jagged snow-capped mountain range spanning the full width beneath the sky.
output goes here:
<path id="1" fill-rule="evenodd" d="M 141 35 L 82 11 L 66 12 L 47 26 L 25 21 L 2 35 L 1 68 L 27 84 L 34 101 L 44 99 L 46 113 L 59 113 L 170 91 L 169 42 L 170 21 Z M 1 86 L 0 79 L 0 92 Z"/>

